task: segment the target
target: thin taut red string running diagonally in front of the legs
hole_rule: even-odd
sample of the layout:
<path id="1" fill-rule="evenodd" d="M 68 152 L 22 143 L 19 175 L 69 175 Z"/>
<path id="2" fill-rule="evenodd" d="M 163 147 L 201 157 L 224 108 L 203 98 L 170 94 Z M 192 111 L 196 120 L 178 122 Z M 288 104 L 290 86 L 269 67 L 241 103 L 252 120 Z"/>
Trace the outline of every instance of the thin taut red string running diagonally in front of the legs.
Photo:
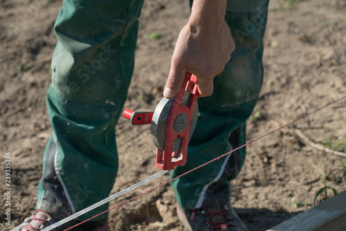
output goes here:
<path id="1" fill-rule="evenodd" d="M 318 112 L 318 111 L 320 111 L 320 110 L 322 110 L 322 109 L 325 109 L 326 107 L 330 106 L 331 104 L 335 104 L 336 102 L 339 102 L 339 101 L 341 101 L 341 100 L 344 100 L 345 98 L 346 98 L 346 96 L 344 96 L 343 98 L 340 98 L 340 99 L 338 99 L 338 100 L 335 100 L 334 102 L 330 102 L 329 104 L 326 104 L 325 106 L 323 106 L 323 107 L 321 107 L 321 108 L 319 108 L 319 109 L 316 109 L 315 111 L 313 111 L 313 112 L 311 112 L 311 113 L 308 113 L 307 115 L 304 115 L 304 116 L 302 116 L 301 118 L 298 118 L 298 119 L 296 119 L 296 120 L 293 120 L 293 122 L 290 122 L 289 124 L 286 124 L 286 125 L 284 125 L 284 126 L 282 126 L 282 127 L 279 127 L 278 129 L 275 129 L 275 130 L 273 130 L 273 131 L 271 131 L 271 132 L 269 132 L 269 133 L 266 133 L 265 135 L 260 136 L 259 138 L 256 138 L 255 140 L 252 140 L 252 141 L 246 143 L 245 145 L 242 145 L 242 146 L 240 146 L 240 147 L 237 147 L 236 149 L 233 149 L 232 151 L 229 151 L 229 152 L 227 152 L 226 154 L 223 154 L 223 155 L 221 155 L 221 156 L 219 156 L 219 157 L 217 157 L 217 158 L 215 158 L 215 159 L 213 159 L 213 160 L 210 160 L 210 161 L 208 161 L 207 163 L 204 163 L 203 165 L 199 165 L 198 167 L 195 167 L 194 169 L 191 169 L 190 171 L 185 172 L 185 173 L 181 174 L 180 176 L 176 176 L 175 178 L 170 179 L 170 181 L 166 181 L 165 183 L 162 183 L 161 185 L 157 185 L 156 187 L 153 187 L 152 189 L 147 190 L 146 192 L 143 192 L 143 193 L 141 193 L 141 194 L 139 194 L 139 195 L 137 195 L 137 196 L 134 196 L 133 198 L 130 198 L 130 199 L 127 200 L 127 201 L 124 201 L 124 202 L 122 202 L 122 203 L 120 203 L 120 204 L 118 204 L 118 205 L 116 205 L 116 206 L 114 206 L 114 207 L 111 207 L 110 209 L 108 209 L 108 210 L 106 210 L 106 211 L 104 211 L 104 212 L 101 212 L 100 214 L 96 214 L 95 216 L 92 216 L 91 218 L 86 219 L 85 221 L 82 221 L 82 222 L 80 222 L 80 223 L 78 223 L 78 224 L 76 224 L 76 225 L 73 225 L 71 228 L 68 228 L 68 229 L 66 229 L 66 230 L 71 230 L 72 228 L 75 228 L 75 227 L 77 227 L 78 225 L 82 225 L 82 223 L 85 223 L 86 221 L 90 221 L 91 219 L 94 219 L 95 217 L 100 216 L 101 214 L 104 214 L 105 212 L 109 212 L 110 210 L 113 210 L 113 209 L 115 209 L 116 207 L 119 207 L 119 206 L 121 206 L 121 205 L 123 205 L 123 204 L 125 204 L 125 203 L 127 203 L 127 202 L 129 202 L 129 201 L 132 201 L 132 200 L 134 200 L 134 199 L 136 199 L 136 198 L 138 198 L 138 197 L 140 197 L 140 196 L 143 196 L 144 194 L 147 194 L 148 192 L 152 192 L 153 190 L 156 190 L 158 187 L 161 187 L 161 186 L 163 186 L 163 185 L 166 185 L 167 183 L 170 183 L 171 181 L 174 181 L 174 180 L 176 180 L 177 178 L 180 178 L 181 176 L 185 176 L 186 174 L 189 174 L 190 172 L 193 172 L 194 170 L 199 169 L 200 167 L 203 167 L 203 166 L 205 166 L 205 165 L 208 165 L 208 164 L 214 162 L 215 160 L 219 160 L 219 158 L 222 158 L 222 157 L 224 157 L 224 156 L 227 156 L 228 154 L 233 153 L 233 151 L 237 151 L 237 150 L 239 150 L 239 149 L 241 149 L 241 148 L 243 148 L 243 147 L 245 147 L 245 146 L 247 146 L 247 145 L 250 145 L 251 143 L 256 142 L 257 140 L 260 140 L 260 139 L 262 139 L 262 138 L 264 138 L 264 137 L 266 137 L 266 136 L 271 135 L 271 134 L 274 133 L 275 131 L 279 131 L 280 129 L 283 129 L 284 127 L 288 127 L 289 125 L 291 125 L 291 124 L 297 122 L 298 120 L 302 120 L 302 119 L 306 118 L 307 116 L 309 116 L 309 115 L 311 115 L 311 114 L 313 114 L 313 113 L 316 113 L 316 112 Z M 64 230 L 64 231 L 66 231 L 66 230 Z"/>

